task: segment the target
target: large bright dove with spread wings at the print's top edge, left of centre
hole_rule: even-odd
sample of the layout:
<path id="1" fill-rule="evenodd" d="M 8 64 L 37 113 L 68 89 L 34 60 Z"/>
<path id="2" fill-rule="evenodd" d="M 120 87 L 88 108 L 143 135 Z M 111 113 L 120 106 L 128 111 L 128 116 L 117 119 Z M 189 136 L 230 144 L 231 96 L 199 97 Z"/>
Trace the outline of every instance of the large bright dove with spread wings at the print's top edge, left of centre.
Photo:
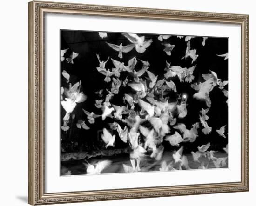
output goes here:
<path id="1" fill-rule="evenodd" d="M 148 48 L 151 43 L 152 39 L 145 41 L 145 36 L 139 37 L 135 33 L 122 33 L 123 36 L 125 36 L 130 42 L 135 44 L 135 49 L 138 53 L 143 53 L 146 51 L 146 48 Z"/>

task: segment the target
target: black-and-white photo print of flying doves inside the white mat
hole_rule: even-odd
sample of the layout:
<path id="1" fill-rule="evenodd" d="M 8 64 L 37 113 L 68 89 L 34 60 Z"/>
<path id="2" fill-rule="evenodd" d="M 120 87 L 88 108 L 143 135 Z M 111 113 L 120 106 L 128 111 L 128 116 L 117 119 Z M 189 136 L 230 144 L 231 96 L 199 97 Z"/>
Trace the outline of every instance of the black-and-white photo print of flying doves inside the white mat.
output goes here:
<path id="1" fill-rule="evenodd" d="M 228 48 L 60 30 L 60 175 L 227 168 Z"/>

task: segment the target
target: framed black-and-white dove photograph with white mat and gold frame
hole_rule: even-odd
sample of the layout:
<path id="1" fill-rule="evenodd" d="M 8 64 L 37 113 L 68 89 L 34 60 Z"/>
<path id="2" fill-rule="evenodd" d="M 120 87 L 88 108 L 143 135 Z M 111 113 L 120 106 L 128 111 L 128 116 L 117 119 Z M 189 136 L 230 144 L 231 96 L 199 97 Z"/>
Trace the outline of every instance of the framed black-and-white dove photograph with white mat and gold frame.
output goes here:
<path id="1" fill-rule="evenodd" d="M 29 204 L 249 191 L 249 15 L 28 7 Z"/>

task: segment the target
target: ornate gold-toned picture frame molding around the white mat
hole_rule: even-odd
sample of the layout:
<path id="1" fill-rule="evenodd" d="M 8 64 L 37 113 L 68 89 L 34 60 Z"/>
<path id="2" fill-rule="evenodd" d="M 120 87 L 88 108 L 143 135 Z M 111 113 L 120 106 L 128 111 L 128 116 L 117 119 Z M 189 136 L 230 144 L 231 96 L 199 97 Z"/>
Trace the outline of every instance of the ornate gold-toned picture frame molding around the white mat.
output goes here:
<path id="1" fill-rule="evenodd" d="M 241 26 L 241 181 L 68 193 L 44 190 L 44 15 L 60 13 Z M 249 15 L 58 2 L 28 3 L 28 203 L 31 205 L 249 191 Z"/>

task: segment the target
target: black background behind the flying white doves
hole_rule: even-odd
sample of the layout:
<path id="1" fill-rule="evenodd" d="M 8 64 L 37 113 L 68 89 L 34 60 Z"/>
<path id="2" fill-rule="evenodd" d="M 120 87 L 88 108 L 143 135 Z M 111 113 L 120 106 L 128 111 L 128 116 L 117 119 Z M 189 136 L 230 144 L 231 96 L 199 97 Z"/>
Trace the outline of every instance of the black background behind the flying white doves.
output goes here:
<path id="1" fill-rule="evenodd" d="M 186 60 L 182 57 L 185 55 L 186 51 L 186 42 L 185 37 L 182 39 L 177 38 L 176 36 L 172 36 L 167 40 L 163 40 L 162 42 L 157 39 L 157 34 L 143 34 L 145 35 L 145 39 L 153 39 L 152 44 L 146 49 L 144 53 L 137 53 L 135 49 L 133 49 L 129 53 L 123 53 L 123 58 L 118 58 L 118 52 L 114 51 L 110 48 L 106 42 L 113 43 L 119 45 L 123 43 L 123 45 L 130 44 L 121 33 L 108 33 L 108 37 L 105 39 L 101 39 L 98 35 L 98 32 L 87 32 L 87 31 L 70 31 L 70 30 L 61 30 L 61 49 L 67 49 L 67 53 L 65 57 L 68 57 L 72 51 L 75 53 L 79 53 L 79 56 L 74 59 L 74 64 L 68 64 L 65 61 L 61 62 L 61 72 L 65 69 L 67 73 L 70 74 L 70 82 L 72 85 L 77 81 L 81 80 L 82 91 L 87 95 L 87 100 L 83 103 L 78 103 L 74 112 L 76 117 L 71 122 L 69 122 L 69 126 L 71 128 L 66 132 L 61 130 L 61 146 L 65 149 L 65 152 L 72 151 L 92 151 L 100 149 L 99 141 L 101 141 L 100 133 L 103 127 L 109 129 L 108 123 L 113 122 L 108 118 L 102 122 L 101 118 L 95 119 L 94 124 L 89 124 L 86 118 L 86 115 L 82 112 L 82 108 L 89 111 L 94 112 L 96 114 L 101 114 L 101 109 L 98 109 L 94 106 L 95 100 L 99 100 L 98 95 L 95 94 L 96 91 L 100 89 L 109 88 L 111 82 L 104 81 L 104 75 L 99 73 L 96 69 L 99 66 L 99 62 L 96 57 L 96 53 L 100 55 L 100 59 L 107 60 L 108 56 L 124 62 L 125 65 L 128 65 L 128 60 L 133 58 L 134 56 L 137 59 L 148 60 L 150 63 L 149 71 L 158 75 L 158 80 L 161 80 L 164 76 L 164 68 L 166 67 L 166 60 L 172 66 L 181 66 L 181 67 L 191 67 L 195 64 L 197 65 L 194 71 L 195 79 L 192 81 L 200 82 L 204 81 L 202 79 L 202 74 L 210 73 L 209 70 L 217 73 L 218 78 L 223 80 L 228 80 L 228 60 L 224 60 L 223 57 L 218 57 L 216 54 L 223 54 L 228 52 L 228 38 L 216 38 L 209 37 L 205 46 L 202 46 L 202 37 L 192 38 L 190 40 L 191 49 L 196 49 L 196 54 L 199 55 L 197 60 L 191 64 L 191 58 L 187 58 Z M 139 34 L 140 35 L 140 34 Z M 181 34 L 182 35 L 182 34 Z M 164 51 L 164 46 L 161 43 L 170 43 L 174 44 L 175 48 L 172 51 L 172 55 L 168 56 Z M 138 64 L 135 66 L 135 70 L 141 69 L 141 62 L 138 61 Z M 112 61 L 109 59 L 106 68 L 111 69 L 114 67 Z M 128 74 L 122 73 L 120 80 L 123 80 Z M 61 86 L 67 87 L 66 80 L 61 75 Z M 145 73 L 143 77 L 147 77 Z M 131 79 L 131 77 L 130 77 Z M 188 129 L 190 129 L 191 125 L 195 122 L 199 121 L 199 111 L 201 108 L 207 108 L 204 102 L 200 102 L 195 100 L 192 96 L 195 92 L 190 86 L 190 83 L 180 83 L 180 80 L 175 77 L 172 78 L 175 82 L 177 88 L 177 94 L 186 93 L 188 96 L 187 100 L 187 116 L 184 119 L 178 120 L 178 122 L 184 123 Z M 122 97 L 124 93 L 132 93 L 132 90 L 127 91 L 129 88 L 120 88 L 120 93 L 115 95 L 111 103 L 116 105 L 122 104 Z M 228 90 L 228 86 L 225 86 L 225 89 Z M 106 94 L 106 93 L 105 93 Z M 176 100 L 176 93 L 170 93 L 170 99 Z M 105 96 L 105 95 L 104 95 Z M 212 106 L 207 115 L 209 116 L 208 125 L 212 127 L 212 132 L 208 135 L 204 135 L 201 132 L 202 126 L 199 128 L 199 136 L 193 143 L 182 143 L 184 145 L 185 152 L 190 152 L 191 150 L 196 150 L 197 146 L 201 146 L 202 144 L 207 144 L 211 142 L 211 147 L 209 149 L 213 150 L 222 150 L 223 147 L 226 146 L 228 142 L 228 106 L 226 103 L 227 98 L 223 95 L 222 90 L 218 89 L 216 86 L 213 91 L 210 92 L 210 98 L 212 100 Z M 63 116 L 65 115 L 65 110 L 61 107 L 61 125 L 63 125 Z M 135 107 L 136 109 L 136 107 Z M 91 127 L 90 130 L 78 129 L 76 127 L 77 120 L 85 120 L 85 123 Z M 226 126 L 226 136 L 224 139 L 220 137 L 216 133 L 216 129 L 219 129 L 221 126 Z M 171 129 L 171 134 L 175 132 L 174 129 Z M 114 132 L 115 133 L 115 132 Z M 117 135 L 118 137 L 118 135 Z M 165 150 L 174 149 L 169 145 L 168 142 L 163 142 Z M 115 148 L 124 148 L 128 145 L 121 142 L 119 138 L 116 138 L 116 146 Z"/>

